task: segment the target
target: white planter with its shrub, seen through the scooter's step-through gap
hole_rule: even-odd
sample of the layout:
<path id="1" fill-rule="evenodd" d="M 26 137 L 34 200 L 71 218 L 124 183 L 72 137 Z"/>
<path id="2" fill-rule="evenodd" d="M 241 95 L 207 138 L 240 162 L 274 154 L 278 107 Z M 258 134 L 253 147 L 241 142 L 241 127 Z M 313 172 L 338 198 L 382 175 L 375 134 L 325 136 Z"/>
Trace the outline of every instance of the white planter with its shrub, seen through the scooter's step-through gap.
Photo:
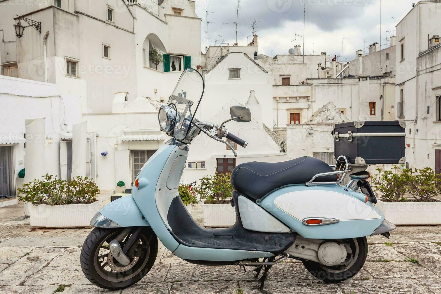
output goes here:
<path id="1" fill-rule="evenodd" d="M 236 221 L 234 207 L 231 206 L 231 174 L 206 176 L 200 180 L 194 191 L 204 200 L 202 214 L 205 227 L 230 227 Z"/>

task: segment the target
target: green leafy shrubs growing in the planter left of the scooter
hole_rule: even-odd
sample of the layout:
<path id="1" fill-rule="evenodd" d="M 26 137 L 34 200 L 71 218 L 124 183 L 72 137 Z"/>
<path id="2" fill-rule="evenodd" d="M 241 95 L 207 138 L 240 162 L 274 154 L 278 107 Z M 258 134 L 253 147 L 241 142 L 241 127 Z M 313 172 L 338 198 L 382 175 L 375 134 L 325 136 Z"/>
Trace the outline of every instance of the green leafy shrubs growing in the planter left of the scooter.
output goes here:
<path id="1" fill-rule="evenodd" d="M 18 189 L 19 200 L 46 205 L 88 204 L 97 201 L 100 193 L 92 179 L 76 177 L 71 181 L 57 179 L 56 175 L 46 174 L 43 180 L 34 179 Z"/>

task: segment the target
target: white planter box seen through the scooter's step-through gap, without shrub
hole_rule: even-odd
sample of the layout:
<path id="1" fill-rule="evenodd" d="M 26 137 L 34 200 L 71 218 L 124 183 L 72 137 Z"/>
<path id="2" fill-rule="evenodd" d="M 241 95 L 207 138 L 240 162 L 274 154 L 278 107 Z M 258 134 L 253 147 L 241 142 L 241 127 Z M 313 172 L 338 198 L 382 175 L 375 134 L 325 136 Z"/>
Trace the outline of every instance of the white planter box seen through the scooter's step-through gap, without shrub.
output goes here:
<path id="1" fill-rule="evenodd" d="M 231 227 L 236 222 L 236 212 L 230 203 L 202 203 L 202 215 L 205 227 Z"/>

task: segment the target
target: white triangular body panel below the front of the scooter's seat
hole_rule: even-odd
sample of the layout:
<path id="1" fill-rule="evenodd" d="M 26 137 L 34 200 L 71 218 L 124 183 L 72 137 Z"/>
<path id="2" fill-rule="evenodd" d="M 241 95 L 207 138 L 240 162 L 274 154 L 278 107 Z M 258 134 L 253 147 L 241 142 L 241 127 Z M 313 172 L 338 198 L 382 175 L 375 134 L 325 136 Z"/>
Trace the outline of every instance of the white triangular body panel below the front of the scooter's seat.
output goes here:
<path id="1" fill-rule="evenodd" d="M 267 233 L 289 233 L 290 229 L 253 201 L 239 196 L 239 212 L 247 230 Z"/>

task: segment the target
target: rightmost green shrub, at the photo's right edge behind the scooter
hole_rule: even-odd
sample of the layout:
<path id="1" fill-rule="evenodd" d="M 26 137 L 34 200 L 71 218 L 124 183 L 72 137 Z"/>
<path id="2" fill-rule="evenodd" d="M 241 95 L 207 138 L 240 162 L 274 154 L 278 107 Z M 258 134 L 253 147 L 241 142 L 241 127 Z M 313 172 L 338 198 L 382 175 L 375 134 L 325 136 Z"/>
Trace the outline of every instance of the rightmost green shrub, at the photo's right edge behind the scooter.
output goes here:
<path id="1" fill-rule="evenodd" d="M 417 201 L 429 201 L 441 192 L 440 175 L 430 167 L 415 169 L 411 181 L 408 181 L 407 193 Z"/>

